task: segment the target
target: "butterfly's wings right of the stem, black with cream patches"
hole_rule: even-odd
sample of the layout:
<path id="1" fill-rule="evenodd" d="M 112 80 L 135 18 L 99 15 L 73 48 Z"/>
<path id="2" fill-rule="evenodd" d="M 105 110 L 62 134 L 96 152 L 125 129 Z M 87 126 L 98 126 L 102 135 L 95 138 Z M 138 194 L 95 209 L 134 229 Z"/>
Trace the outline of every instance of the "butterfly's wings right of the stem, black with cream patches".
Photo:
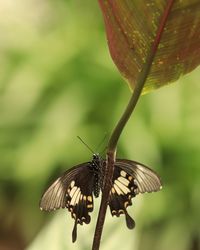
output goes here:
<path id="1" fill-rule="evenodd" d="M 127 212 L 127 207 L 132 205 L 131 199 L 139 193 L 160 188 L 160 178 L 153 170 L 135 161 L 117 159 L 109 198 L 112 216 L 125 214 L 127 227 L 134 228 L 135 222 Z"/>

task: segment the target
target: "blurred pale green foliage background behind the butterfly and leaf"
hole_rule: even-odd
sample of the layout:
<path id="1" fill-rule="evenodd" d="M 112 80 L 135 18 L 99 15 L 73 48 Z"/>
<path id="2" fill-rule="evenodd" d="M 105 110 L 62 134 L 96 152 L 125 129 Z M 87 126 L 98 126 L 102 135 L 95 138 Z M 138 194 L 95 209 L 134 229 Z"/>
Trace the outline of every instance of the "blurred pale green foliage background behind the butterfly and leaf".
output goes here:
<path id="1" fill-rule="evenodd" d="M 88 161 L 120 117 L 130 91 L 110 59 L 97 1 L 0 1 L 0 250 L 88 250 L 89 225 L 39 210 L 45 187 Z M 129 208 L 136 229 L 111 218 L 103 249 L 200 249 L 200 68 L 141 98 L 118 157 L 156 170 L 161 192 Z"/>

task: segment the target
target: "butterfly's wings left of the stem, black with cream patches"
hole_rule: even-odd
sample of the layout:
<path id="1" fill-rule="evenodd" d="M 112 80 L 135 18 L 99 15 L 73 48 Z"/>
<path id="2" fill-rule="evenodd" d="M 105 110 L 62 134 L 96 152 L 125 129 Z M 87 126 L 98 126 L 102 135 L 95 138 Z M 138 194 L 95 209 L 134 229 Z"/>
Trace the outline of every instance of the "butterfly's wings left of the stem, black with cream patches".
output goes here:
<path id="1" fill-rule="evenodd" d="M 63 173 L 43 194 L 40 209 L 52 211 L 67 208 L 75 220 L 72 232 L 76 240 L 77 224 L 90 222 L 89 212 L 93 211 L 94 174 L 90 162 L 80 164 Z"/>

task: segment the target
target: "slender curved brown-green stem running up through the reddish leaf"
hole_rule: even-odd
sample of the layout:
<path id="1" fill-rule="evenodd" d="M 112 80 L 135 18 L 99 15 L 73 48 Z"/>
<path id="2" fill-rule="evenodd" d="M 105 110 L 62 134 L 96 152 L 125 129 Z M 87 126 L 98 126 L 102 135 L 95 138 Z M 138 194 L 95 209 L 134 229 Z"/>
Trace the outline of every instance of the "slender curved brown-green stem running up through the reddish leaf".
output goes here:
<path id="1" fill-rule="evenodd" d="M 101 235 L 103 230 L 103 225 L 105 221 L 105 215 L 107 210 L 107 205 L 109 201 L 109 194 L 110 189 L 112 185 L 112 178 L 113 178 L 113 172 L 114 172 L 114 163 L 115 163 L 115 155 L 116 155 L 116 148 L 117 148 L 117 142 L 119 140 L 119 137 L 129 120 L 132 112 L 134 111 L 136 104 L 139 100 L 139 97 L 142 93 L 142 89 L 144 87 L 144 84 L 146 82 L 146 79 L 148 77 L 148 74 L 151 69 L 152 62 L 155 58 L 156 51 L 158 49 L 158 45 L 160 43 L 160 39 L 165 27 L 165 24 L 167 22 L 168 16 L 170 14 L 171 8 L 174 4 L 175 0 L 169 0 L 166 4 L 166 9 L 163 13 L 163 16 L 160 20 L 160 25 L 158 27 L 158 31 L 155 37 L 155 40 L 152 44 L 152 48 L 149 51 L 148 57 L 146 59 L 146 62 L 144 64 L 144 67 L 139 75 L 138 81 L 135 85 L 134 92 L 130 98 L 130 101 L 122 114 L 119 122 L 117 123 L 115 129 L 112 132 L 112 135 L 110 137 L 110 140 L 108 142 L 108 149 L 107 149 L 107 164 L 106 164 L 106 171 L 105 171 L 105 177 L 104 177 L 104 188 L 102 193 L 102 199 L 101 199 L 101 205 L 99 209 L 99 215 L 97 219 L 96 229 L 95 229 L 95 235 L 93 239 L 93 246 L 92 250 L 99 250 L 100 247 L 100 241 L 101 241 Z"/>

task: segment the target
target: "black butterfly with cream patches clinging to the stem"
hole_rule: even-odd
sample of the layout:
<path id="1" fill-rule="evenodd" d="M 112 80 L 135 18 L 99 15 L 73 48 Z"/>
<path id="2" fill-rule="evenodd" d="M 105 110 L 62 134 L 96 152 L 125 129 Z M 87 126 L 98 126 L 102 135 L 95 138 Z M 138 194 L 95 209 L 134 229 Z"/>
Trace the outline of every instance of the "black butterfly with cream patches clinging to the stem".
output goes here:
<path id="1" fill-rule="evenodd" d="M 67 208 L 75 220 L 72 241 L 77 238 L 77 224 L 90 223 L 93 211 L 93 194 L 99 196 L 103 187 L 106 161 L 93 154 L 91 162 L 77 165 L 63 173 L 43 194 L 40 209 L 52 211 Z M 158 175 L 141 163 L 117 159 L 110 190 L 109 207 L 112 216 L 125 215 L 126 225 L 134 228 L 135 222 L 127 212 L 131 199 L 139 193 L 161 189 Z"/>

